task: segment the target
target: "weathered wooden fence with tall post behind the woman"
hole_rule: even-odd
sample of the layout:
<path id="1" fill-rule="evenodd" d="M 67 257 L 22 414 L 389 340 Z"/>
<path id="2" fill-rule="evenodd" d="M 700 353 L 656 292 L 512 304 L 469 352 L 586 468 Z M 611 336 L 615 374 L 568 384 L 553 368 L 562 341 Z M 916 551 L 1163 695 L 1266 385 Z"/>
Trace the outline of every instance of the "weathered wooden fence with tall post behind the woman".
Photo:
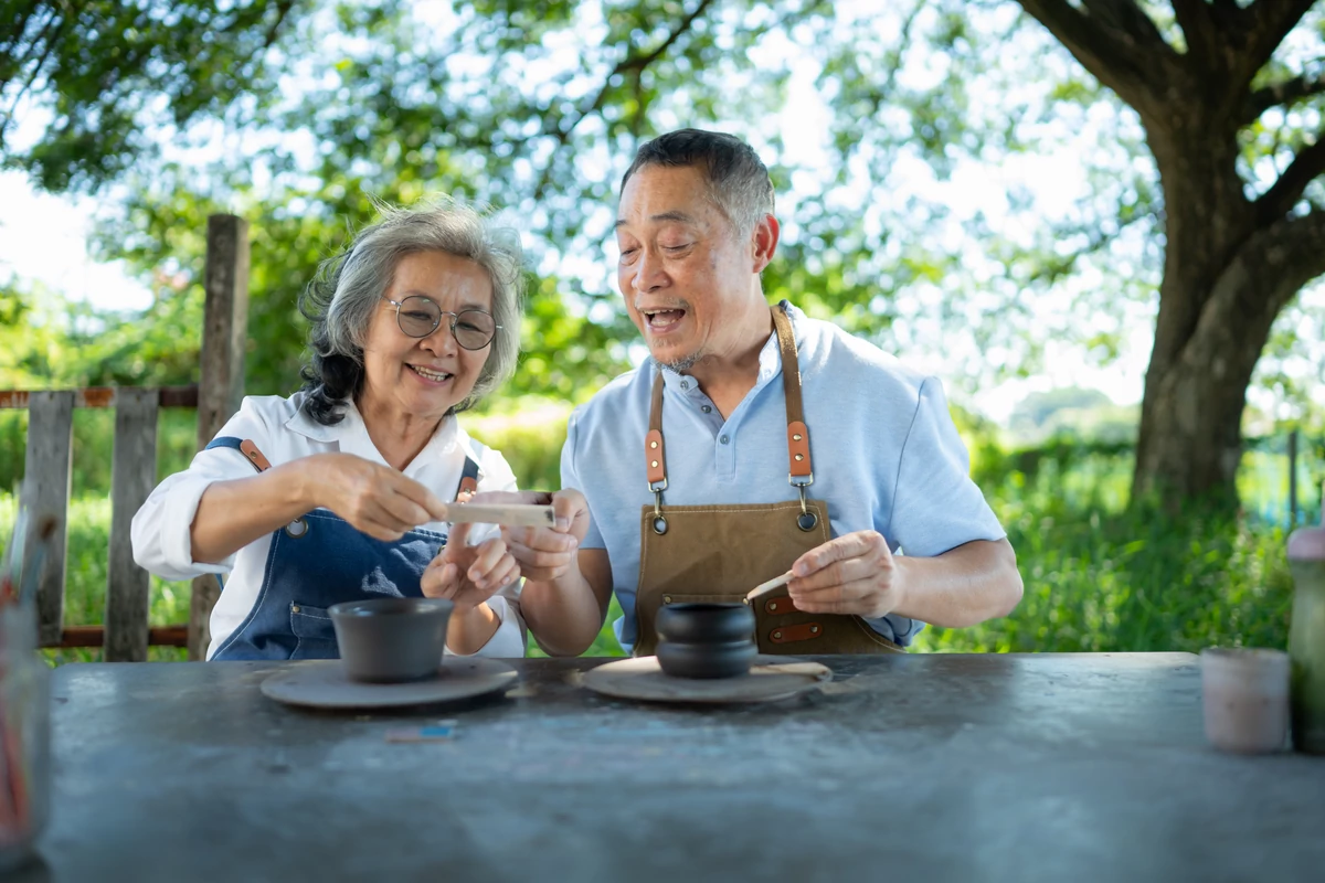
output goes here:
<path id="1" fill-rule="evenodd" d="M 107 662 L 142 661 L 147 647 L 187 646 L 201 659 L 209 643 L 208 618 L 220 586 L 212 576 L 193 580 L 189 621 L 150 627 L 147 571 L 134 563 L 129 528 L 156 485 L 156 417 L 162 408 L 197 409 L 197 447 L 205 446 L 238 409 L 244 395 L 248 338 L 248 222 L 232 214 L 207 218 L 205 307 L 199 381 L 192 387 L 91 388 L 0 392 L 0 408 L 28 410 L 28 445 L 20 499 L 34 519 L 56 516 L 53 553 L 37 588 L 41 646 L 101 646 Z M 105 626 L 64 625 L 66 523 L 73 475 L 73 409 L 114 408 L 111 522 Z M 29 537 L 36 543 L 36 536 Z M 30 555 L 25 560 L 32 560 Z"/>

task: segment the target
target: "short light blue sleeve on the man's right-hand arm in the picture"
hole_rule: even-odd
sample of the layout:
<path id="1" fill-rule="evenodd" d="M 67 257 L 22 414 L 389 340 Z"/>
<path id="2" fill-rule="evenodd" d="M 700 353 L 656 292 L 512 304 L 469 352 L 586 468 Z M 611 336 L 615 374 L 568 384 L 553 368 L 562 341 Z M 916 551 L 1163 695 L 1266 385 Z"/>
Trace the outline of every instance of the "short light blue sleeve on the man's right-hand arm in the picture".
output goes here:
<path id="1" fill-rule="evenodd" d="M 906 555 L 942 555 L 971 540 L 1006 536 L 971 481 L 966 445 L 947 410 L 942 384 L 928 377 L 897 466 L 884 536 Z"/>

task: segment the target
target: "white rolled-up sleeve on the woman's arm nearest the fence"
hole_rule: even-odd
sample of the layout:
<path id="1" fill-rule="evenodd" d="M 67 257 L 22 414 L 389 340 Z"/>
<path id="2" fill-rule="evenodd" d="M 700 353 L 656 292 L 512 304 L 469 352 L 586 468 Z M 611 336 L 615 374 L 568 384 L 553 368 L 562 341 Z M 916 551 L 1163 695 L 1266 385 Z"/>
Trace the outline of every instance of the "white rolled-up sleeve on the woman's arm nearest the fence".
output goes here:
<path id="1" fill-rule="evenodd" d="M 273 449 L 270 445 L 272 428 L 264 420 L 253 398 L 245 398 L 238 413 L 225 422 L 225 426 L 217 433 L 217 437 L 223 436 L 249 438 L 260 450 Z M 188 580 L 204 573 L 229 573 L 235 565 L 235 555 L 215 564 L 193 560 L 193 541 L 189 528 L 197 514 L 197 503 L 212 483 L 256 474 L 248 458 L 233 447 L 197 451 L 188 469 L 158 485 L 134 515 L 130 528 L 134 560 L 139 567 L 163 580 Z"/>

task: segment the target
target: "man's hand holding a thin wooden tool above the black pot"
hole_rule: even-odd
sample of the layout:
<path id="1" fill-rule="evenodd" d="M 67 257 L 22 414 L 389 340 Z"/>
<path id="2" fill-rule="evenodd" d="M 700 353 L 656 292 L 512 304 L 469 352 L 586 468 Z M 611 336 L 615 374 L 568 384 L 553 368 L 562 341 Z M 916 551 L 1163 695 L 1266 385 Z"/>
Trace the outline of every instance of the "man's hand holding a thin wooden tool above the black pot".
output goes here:
<path id="1" fill-rule="evenodd" d="M 791 565 L 787 594 L 806 613 L 877 618 L 902 604 L 901 572 L 878 531 L 856 531 L 810 549 Z"/>

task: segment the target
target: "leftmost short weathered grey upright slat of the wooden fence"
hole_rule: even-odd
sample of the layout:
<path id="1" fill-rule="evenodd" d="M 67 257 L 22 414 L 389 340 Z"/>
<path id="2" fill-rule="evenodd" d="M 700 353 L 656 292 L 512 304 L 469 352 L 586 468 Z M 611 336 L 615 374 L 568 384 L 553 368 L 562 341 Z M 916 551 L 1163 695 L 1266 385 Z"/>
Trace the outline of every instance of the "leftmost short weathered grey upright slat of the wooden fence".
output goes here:
<path id="1" fill-rule="evenodd" d="M 69 482 L 73 473 L 74 393 L 34 392 L 28 398 L 28 453 L 23 504 L 38 519 L 54 515 L 56 534 L 37 575 L 37 639 L 60 646 L 65 625 L 65 553 L 69 540 Z M 24 560 L 32 561 L 38 537 L 29 531 Z"/>

